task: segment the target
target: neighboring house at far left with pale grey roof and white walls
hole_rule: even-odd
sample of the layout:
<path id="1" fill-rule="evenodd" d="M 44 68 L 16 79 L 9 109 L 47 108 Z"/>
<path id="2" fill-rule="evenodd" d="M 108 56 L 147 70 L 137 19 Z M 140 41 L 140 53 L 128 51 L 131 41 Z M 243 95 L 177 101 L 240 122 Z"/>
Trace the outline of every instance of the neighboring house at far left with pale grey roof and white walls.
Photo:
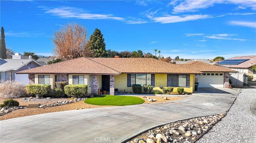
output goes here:
<path id="1" fill-rule="evenodd" d="M 16 74 L 18 71 L 40 67 L 41 65 L 32 59 L 22 59 L 23 55 L 12 55 L 14 59 L 0 59 L 1 80 L 19 80 L 23 85 L 28 84 L 28 74 Z M 26 56 L 25 56 L 26 57 Z"/>

